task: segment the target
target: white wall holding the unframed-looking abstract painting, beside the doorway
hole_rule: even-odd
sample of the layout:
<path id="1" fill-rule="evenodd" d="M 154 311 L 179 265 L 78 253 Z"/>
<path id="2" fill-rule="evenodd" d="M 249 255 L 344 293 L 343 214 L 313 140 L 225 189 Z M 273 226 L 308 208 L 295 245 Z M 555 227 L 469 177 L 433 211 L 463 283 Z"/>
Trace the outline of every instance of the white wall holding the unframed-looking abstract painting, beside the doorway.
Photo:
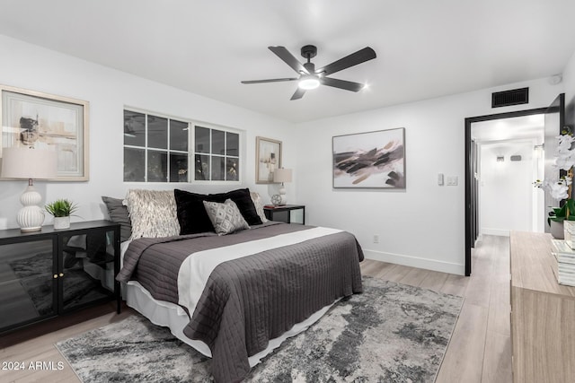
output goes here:
<path id="1" fill-rule="evenodd" d="M 529 104 L 491 109 L 491 92 L 529 87 Z M 546 79 L 298 124 L 297 202 L 305 222 L 354 233 L 366 256 L 464 274 L 464 118 L 548 106 Z M 332 136 L 405 127 L 405 190 L 333 189 Z M 439 187 L 438 173 L 459 178 Z M 379 235 L 380 243 L 373 243 Z"/>

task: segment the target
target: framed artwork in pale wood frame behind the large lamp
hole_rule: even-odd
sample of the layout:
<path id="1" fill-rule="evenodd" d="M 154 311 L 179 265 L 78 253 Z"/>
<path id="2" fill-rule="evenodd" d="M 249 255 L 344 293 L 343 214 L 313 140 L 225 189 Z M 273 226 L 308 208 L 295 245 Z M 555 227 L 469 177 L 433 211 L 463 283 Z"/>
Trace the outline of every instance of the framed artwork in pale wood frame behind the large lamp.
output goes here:
<path id="1" fill-rule="evenodd" d="M 28 146 L 57 152 L 56 181 L 87 181 L 88 101 L 0 85 L 2 149 Z"/>

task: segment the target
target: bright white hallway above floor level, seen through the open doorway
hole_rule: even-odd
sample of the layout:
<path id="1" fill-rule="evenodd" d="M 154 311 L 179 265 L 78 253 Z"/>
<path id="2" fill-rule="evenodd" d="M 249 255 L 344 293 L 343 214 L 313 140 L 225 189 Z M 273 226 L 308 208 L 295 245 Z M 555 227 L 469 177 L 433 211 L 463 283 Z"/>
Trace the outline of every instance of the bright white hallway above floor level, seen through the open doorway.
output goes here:
<path id="1" fill-rule="evenodd" d="M 482 234 L 544 231 L 544 114 L 474 122 L 477 226 Z"/>

